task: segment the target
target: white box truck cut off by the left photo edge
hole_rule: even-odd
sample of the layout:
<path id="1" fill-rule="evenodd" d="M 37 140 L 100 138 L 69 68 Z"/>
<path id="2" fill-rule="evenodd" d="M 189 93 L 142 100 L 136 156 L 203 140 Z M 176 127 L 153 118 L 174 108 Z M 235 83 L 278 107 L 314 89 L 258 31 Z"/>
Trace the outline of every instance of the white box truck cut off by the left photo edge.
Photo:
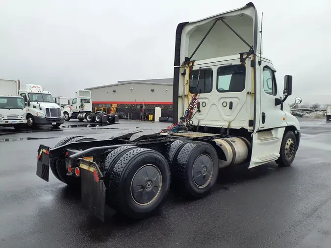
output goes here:
<path id="1" fill-rule="evenodd" d="M 20 80 L 0 79 L 0 126 L 20 129 L 26 123 L 25 102 L 17 93 Z"/>

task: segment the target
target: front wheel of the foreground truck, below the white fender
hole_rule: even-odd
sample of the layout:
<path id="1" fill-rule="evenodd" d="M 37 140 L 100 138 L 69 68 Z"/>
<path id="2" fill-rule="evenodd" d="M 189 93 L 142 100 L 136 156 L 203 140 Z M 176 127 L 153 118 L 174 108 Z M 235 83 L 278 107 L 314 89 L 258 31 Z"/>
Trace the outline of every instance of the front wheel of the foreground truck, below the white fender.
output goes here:
<path id="1" fill-rule="evenodd" d="M 290 141 L 291 140 L 291 141 Z M 280 157 L 276 160 L 276 163 L 280 167 L 288 167 L 293 163 L 297 152 L 297 138 L 294 132 L 288 131 L 283 136 L 280 146 Z M 292 154 L 292 156 L 290 156 Z"/>

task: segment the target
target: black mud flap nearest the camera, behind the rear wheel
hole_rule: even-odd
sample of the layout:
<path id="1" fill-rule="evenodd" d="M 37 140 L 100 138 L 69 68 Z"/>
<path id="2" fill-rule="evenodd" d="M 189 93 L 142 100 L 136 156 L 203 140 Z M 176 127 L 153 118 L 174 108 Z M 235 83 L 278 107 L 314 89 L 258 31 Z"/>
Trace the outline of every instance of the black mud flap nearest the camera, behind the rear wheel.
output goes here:
<path id="1" fill-rule="evenodd" d="M 104 222 L 104 207 L 106 187 L 95 164 L 82 160 L 80 163 L 81 202 L 83 208 L 89 210 L 95 217 Z"/>

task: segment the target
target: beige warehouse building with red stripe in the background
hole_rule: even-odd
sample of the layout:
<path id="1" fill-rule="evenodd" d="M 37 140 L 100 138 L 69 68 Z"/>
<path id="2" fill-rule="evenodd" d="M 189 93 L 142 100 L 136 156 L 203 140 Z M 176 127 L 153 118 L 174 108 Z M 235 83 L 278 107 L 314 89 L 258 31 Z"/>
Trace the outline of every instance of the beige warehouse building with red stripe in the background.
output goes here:
<path id="1" fill-rule="evenodd" d="M 152 113 L 155 107 L 172 110 L 173 78 L 118 81 L 115 84 L 85 90 L 91 91 L 94 109 L 106 107 L 109 110 L 111 106 L 116 106 L 117 113 L 139 112 L 139 114 L 141 109 L 146 109 L 146 113 Z M 132 119 L 139 118 L 132 117 Z"/>

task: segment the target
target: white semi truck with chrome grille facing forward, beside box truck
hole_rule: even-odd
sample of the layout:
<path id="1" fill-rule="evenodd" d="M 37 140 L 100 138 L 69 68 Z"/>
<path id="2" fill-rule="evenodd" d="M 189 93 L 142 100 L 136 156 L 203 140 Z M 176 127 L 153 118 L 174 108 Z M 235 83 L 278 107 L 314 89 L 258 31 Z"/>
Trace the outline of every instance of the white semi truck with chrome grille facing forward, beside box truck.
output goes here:
<path id="1" fill-rule="evenodd" d="M 44 91 L 41 85 L 26 84 L 19 91 L 19 96 L 25 99 L 28 127 L 44 124 L 59 127 L 64 123 L 60 106 L 54 103 L 51 93 Z"/>

